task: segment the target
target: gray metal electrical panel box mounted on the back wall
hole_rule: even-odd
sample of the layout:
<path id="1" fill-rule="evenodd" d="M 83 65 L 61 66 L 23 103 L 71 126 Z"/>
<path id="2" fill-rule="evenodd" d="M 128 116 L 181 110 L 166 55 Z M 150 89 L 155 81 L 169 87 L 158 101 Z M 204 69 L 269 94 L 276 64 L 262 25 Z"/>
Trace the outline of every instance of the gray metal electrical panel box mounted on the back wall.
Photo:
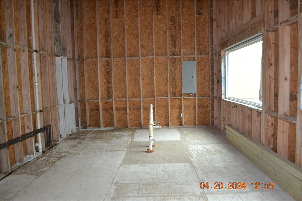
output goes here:
<path id="1" fill-rule="evenodd" d="M 196 93 L 196 61 L 182 62 L 182 93 Z"/>

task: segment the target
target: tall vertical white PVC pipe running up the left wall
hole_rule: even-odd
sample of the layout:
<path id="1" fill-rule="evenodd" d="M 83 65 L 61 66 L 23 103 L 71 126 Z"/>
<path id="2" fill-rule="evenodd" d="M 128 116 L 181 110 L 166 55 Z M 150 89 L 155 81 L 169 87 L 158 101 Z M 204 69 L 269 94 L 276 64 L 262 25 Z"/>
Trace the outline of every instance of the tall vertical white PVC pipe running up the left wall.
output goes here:
<path id="1" fill-rule="evenodd" d="M 32 36 L 32 49 L 35 49 L 35 26 L 34 26 L 34 0 L 31 0 L 31 36 Z M 39 90 L 38 90 L 38 75 L 37 75 L 37 60 L 36 60 L 36 52 L 33 52 L 33 60 L 34 60 L 34 80 L 35 80 L 35 95 L 36 95 L 36 110 L 39 110 Z M 40 128 L 40 113 L 37 113 L 37 128 Z M 42 143 L 41 143 L 41 134 L 37 135 L 38 143 L 37 146 L 39 148 L 39 152 L 42 152 Z"/>

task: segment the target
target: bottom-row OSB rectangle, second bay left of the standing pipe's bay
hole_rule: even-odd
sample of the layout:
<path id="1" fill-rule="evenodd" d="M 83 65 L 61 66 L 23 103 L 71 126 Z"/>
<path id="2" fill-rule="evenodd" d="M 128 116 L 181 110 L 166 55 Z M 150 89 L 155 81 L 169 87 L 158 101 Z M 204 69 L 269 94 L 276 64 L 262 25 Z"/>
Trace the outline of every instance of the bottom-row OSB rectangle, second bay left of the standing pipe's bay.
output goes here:
<path id="1" fill-rule="evenodd" d="M 115 101 L 116 127 L 127 128 L 127 101 Z"/>

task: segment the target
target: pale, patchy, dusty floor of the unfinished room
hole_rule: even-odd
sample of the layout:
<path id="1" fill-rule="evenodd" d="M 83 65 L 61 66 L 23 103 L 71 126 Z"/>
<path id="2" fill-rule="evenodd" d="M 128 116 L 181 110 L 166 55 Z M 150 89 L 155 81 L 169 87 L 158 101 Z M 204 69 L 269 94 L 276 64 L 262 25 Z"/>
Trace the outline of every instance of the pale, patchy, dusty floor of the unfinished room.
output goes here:
<path id="1" fill-rule="evenodd" d="M 214 127 L 82 130 L 1 180 L 1 200 L 293 200 Z M 199 183 L 245 182 L 245 190 Z"/>

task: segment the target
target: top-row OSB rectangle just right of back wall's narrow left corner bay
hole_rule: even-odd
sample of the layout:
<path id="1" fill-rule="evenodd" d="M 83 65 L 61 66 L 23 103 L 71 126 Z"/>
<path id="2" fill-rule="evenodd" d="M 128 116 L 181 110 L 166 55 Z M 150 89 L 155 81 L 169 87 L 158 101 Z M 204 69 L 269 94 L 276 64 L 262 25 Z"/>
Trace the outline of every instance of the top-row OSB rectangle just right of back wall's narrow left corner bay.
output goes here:
<path id="1" fill-rule="evenodd" d="M 84 1 L 84 12 L 86 58 L 98 58 L 98 43 L 96 31 L 96 1 Z"/>

